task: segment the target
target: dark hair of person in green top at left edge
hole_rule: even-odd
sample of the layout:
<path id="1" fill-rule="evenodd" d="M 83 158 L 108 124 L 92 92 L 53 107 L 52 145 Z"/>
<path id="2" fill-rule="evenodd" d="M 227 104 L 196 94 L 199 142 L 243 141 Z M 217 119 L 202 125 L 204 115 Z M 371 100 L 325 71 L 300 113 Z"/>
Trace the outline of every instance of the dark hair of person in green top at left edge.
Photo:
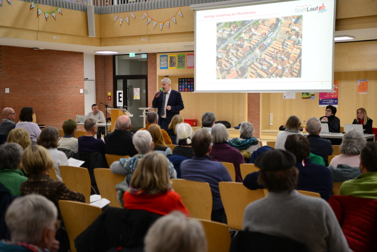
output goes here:
<path id="1" fill-rule="evenodd" d="M 24 149 L 16 143 L 7 143 L 0 145 L 0 170 L 16 170 L 21 163 L 21 155 Z"/>

